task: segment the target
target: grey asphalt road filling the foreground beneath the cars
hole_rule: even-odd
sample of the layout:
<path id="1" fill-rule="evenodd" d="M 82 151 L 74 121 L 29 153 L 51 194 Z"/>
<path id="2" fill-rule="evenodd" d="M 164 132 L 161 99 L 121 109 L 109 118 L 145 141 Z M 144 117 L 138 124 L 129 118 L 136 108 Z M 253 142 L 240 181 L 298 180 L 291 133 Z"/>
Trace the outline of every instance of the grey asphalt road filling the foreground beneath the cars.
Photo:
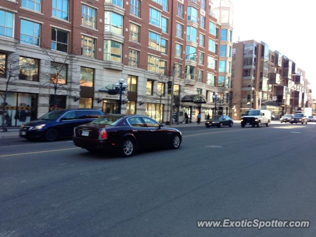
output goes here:
<path id="1" fill-rule="evenodd" d="M 315 237 L 316 123 L 182 128 L 179 150 L 0 140 L 0 237 Z M 198 220 L 310 228 L 197 228 Z"/>

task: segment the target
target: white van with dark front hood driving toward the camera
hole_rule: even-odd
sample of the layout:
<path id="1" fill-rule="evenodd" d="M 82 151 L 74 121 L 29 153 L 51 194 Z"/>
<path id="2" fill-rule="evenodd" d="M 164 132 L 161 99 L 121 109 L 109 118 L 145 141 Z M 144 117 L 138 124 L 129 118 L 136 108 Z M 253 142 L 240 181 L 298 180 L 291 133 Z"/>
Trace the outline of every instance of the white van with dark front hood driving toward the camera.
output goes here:
<path id="1" fill-rule="evenodd" d="M 253 127 L 260 127 L 261 124 L 266 124 L 269 126 L 271 122 L 271 111 L 270 110 L 248 110 L 241 118 L 241 127 L 244 127 L 246 124 L 250 124 Z"/>

